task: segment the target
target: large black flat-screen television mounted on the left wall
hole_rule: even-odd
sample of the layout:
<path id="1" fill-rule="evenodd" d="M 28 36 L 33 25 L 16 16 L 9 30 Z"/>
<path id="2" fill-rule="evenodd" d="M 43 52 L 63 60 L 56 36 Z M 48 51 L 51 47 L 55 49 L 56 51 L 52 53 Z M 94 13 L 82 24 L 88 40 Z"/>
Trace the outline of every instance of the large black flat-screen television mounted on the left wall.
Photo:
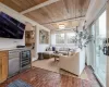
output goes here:
<path id="1" fill-rule="evenodd" d="M 3 12 L 0 12 L 0 37 L 23 39 L 24 30 L 25 24 Z"/>

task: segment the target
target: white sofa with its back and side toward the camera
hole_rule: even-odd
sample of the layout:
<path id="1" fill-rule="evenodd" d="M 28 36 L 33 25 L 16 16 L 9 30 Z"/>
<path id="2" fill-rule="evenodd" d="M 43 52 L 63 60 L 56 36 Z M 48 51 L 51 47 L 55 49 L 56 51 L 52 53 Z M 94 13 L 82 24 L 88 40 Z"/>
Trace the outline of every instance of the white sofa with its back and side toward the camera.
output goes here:
<path id="1" fill-rule="evenodd" d="M 85 50 L 77 51 L 73 55 L 61 55 L 59 67 L 75 75 L 81 75 L 85 67 Z"/>

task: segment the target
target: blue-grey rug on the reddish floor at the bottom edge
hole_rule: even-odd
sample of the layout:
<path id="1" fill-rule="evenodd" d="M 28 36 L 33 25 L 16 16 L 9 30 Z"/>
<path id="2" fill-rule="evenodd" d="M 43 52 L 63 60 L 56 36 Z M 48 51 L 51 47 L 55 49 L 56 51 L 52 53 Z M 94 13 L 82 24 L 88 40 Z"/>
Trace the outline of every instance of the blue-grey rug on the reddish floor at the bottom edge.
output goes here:
<path id="1" fill-rule="evenodd" d="M 8 87 L 32 87 L 29 84 L 23 82 L 22 79 L 16 79 L 8 85 Z"/>

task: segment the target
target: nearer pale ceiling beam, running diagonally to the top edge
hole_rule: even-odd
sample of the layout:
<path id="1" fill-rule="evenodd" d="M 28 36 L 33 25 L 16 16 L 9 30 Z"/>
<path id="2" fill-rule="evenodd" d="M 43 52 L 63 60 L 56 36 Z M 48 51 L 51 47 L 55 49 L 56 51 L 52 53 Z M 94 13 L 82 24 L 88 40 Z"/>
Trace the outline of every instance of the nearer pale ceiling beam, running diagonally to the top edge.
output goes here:
<path id="1" fill-rule="evenodd" d="M 55 2 L 57 2 L 57 1 L 59 1 L 59 0 L 48 0 L 48 1 L 44 2 L 44 3 L 40 3 L 40 4 L 35 5 L 35 7 L 33 7 L 33 8 L 29 8 L 29 9 L 27 9 L 27 10 L 25 10 L 25 11 L 22 11 L 21 14 L 28 13 L 28 12 L 31 12 L 31 11 L 37 10 L 37 9 L 43 8 L 43 7 L 46 7 L 46 5 L 49 5 L 49 4 L 55 3 Z"/>

